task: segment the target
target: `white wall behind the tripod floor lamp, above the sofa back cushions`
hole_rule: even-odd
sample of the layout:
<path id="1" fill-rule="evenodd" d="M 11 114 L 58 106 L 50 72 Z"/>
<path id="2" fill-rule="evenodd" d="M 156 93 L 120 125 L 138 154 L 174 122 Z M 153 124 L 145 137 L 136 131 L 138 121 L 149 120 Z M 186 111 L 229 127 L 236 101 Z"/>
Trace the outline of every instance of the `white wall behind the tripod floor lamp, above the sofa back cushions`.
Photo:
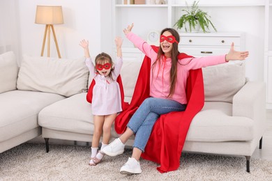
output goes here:
<path id="1" fill-rule="evenodd" d="M 45 25 L 35 24 L 36 6 L 52 5 L 62 6 L 64 24 L 54 25 L 56 39 L 62 58 L 78 58 L 84 56 L 80 40 L 89 40 L 91 56 L 103 51 L 101 42 L 100 3 L 103 1 L 89 0 L 24 0 L 17 1 L 20 18 L 21 54 L 40 56 Z M 109 3 L 111 7 L 111 3 Z M 110 31 L 109 31 L 110 32 Z M 52 33 L 51 33 L 52 34 Z M 45 45 L 44 56 L 47 56 Z M 57 57 L 54 40 L 51 39 L 50 56 Z"/>

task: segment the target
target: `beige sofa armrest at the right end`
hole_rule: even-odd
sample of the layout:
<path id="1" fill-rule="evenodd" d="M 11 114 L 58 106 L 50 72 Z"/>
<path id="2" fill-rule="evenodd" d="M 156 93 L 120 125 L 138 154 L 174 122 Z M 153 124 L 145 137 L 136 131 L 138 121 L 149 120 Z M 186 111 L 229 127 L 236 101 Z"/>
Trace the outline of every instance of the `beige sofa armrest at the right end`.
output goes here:
<path id="1" fill-rule="evenodd" d="M 248 81 L 233 98 L 232 116 L 244 116 L 255 121 L 266 120 L 266 85 Z"/>

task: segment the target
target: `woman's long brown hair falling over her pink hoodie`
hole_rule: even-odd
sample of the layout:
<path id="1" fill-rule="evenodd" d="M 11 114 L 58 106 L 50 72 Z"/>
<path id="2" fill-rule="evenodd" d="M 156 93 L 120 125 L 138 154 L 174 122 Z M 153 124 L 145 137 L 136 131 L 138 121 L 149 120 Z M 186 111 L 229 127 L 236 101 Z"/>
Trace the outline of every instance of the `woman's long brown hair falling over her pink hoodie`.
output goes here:
<path id="1" fill-rule="evenodd" d="M 169 31 L 169 33 L 171 33 L 172 36 L 174 36 L 176 38 L 176 41 L 179 42 L 179 33 L 175 29 L 170 29 L 170 28 L 163 29 L 160 33 L 160 36 L 162 36 L 165 31 Z M 172 51 L 171 51 L 172 65 L 171 65 L 170 80 L 169 80 L 171 83 L 171 86 L 170 86 L 169 95 L 167 95 L 167 97 L 172 97 L 172 95 L 174 94 L 175 88 L 176 88 L 177 63 L 179 61 L 178 55 L 180 54 L 178 45 L 179 45 L 178 43 L 174 42 L 173 47 L 172 47 Z M 154 68 L 154 65 L 156 65 L 156 63 L 161 63 L 160 59 L 162 58 L 163 55 L 164 55 L 163 49 L 160 47 L 158 50 L 157 59 L 152 65 L 153 68 Z"/>

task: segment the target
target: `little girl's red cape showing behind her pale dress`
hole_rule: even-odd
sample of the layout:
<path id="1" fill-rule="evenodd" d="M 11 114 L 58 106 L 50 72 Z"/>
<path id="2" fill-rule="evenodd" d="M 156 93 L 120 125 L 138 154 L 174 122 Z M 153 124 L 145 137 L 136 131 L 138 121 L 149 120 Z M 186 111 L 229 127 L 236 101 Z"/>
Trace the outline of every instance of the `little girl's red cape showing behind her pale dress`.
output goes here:
<path id="1" fill-rule="evenodd" d="M 119 75 L 116 79 L 116 81 L 119 84 L 119 88 L 120 88 L 120 93 L 121 93 L 121 107 L 122 110 L 126 110 L 128 108 L 128 102 L 124 102 L 124 93 L 123 93 L 123 83 L 122 83 L 122 79 L 121 79 L 121 75 Z M 86 100 L 87 102 L 91 103 L 91 100 L 93 99 L 93 86 L 96 84 L 96 81 L 93 79 L 93 81 L 91 81 L 88 93 L 86 95 Z"/>

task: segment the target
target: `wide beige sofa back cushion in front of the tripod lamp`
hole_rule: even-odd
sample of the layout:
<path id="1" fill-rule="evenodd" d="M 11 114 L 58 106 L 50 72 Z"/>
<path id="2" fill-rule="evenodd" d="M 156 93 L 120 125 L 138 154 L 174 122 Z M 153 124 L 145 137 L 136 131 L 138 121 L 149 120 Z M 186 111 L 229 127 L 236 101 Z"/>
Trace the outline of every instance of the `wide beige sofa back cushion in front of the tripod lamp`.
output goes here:
<path id="1" fill-rule="evenodd" d="M 65 59 L 23 56 L 17 89 L 69 97 L 86 92 L 89 70 L 84 58 Z"/>

